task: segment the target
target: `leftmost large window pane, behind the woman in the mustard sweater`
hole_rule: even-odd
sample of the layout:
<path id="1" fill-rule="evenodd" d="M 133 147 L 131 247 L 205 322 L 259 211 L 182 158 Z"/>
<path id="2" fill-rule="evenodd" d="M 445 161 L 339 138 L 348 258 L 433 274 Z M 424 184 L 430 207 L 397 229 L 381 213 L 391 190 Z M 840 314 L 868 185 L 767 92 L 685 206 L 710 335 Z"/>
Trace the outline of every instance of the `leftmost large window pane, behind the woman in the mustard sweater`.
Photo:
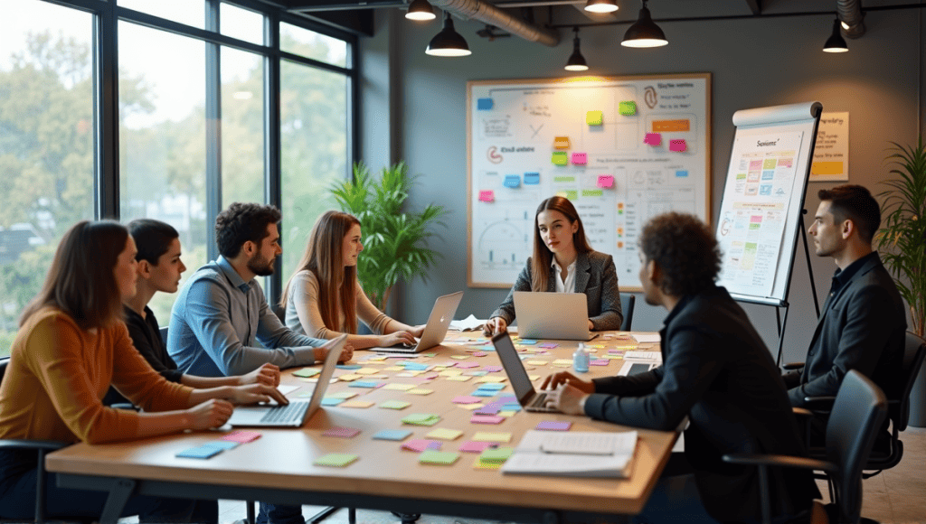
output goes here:
<path id="1" fill-rule="evenodd" d="M 20 0 L 0 17 L 0 356 L 61 235 L 94 218 L 90 14 Z"/>

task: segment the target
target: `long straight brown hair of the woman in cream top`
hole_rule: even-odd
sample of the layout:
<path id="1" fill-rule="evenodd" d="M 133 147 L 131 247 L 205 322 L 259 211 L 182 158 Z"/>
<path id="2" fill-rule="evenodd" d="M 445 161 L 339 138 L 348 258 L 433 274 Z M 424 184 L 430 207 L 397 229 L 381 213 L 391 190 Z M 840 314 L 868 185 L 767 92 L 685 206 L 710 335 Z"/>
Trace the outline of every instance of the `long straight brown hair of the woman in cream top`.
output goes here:
<path id="1" fill-rule="evenodd" d="M 319 311 L 321 320 L 329 330 L 341 331 L 338 311 L 344 313 L 348 333 L 357 333 L 357 267 L 344 267 L 344 237 L 355 225 L 353 215 L 340 211 L 326 211 L 308 234 L 306 253 L 296 267 L 293 277 L 286 282 L 280 305 L 286 307 L 290 286 L 295 274 L 308 269 L 319 281 Z"/>

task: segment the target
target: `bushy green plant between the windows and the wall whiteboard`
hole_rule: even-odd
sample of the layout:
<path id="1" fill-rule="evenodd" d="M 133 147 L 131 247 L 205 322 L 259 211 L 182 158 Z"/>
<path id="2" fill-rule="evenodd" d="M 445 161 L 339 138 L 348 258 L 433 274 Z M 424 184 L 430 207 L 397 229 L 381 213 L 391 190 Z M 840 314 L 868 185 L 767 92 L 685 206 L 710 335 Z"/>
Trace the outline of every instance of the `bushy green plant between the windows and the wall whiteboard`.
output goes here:
<path id="1" fill-rule="evenodd" d="M 382 168 L 379 180 L 358 162 L 353 181 L 336 182 L 331 188 L 341 210 L 360 220 L 364 240 L 357 279 L 380 310 L 399 280 L 424 279 L 440 256 L 427 241 L 434 234 L 432 225 L 444 225 L 444 207 L 429 204 L 420 213 L 402 211 L 414 182 L 404 162 Z"/>

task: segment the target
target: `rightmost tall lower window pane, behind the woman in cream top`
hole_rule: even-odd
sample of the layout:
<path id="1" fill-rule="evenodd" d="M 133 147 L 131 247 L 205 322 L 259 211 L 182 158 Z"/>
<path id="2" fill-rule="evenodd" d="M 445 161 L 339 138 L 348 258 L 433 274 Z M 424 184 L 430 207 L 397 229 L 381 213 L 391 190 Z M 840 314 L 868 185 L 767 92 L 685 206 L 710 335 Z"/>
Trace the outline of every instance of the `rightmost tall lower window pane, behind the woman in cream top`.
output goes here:
<path id="1" fill-rule="evenodd" d="M 283 281 L 306 249 L 321 213 L 335 209 L 329 187 L 347 173 L 347 78 L 282 61 Z"/>

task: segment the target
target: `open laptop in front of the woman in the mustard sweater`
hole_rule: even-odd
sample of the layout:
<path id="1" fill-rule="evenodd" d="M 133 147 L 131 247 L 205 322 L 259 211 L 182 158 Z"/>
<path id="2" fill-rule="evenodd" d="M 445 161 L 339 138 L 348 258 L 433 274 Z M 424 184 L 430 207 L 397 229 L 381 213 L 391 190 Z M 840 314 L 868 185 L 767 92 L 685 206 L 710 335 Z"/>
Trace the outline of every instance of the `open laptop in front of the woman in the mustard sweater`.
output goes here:
<path id="1" fill-rule="evenodd" d="M 332 381 L 338 356 L 344 349 L 347 335 L 334 339 L 335 343 L 325 356 L 325 363 L 319 372 L 319 381 L 315 384 L 312 398 L 306 401 L 292 401 L 288 405 L 239 405 L 234 408 L 228 424 L 235 428 L 299 428 L 321 405 L 321 399 Z"/>

